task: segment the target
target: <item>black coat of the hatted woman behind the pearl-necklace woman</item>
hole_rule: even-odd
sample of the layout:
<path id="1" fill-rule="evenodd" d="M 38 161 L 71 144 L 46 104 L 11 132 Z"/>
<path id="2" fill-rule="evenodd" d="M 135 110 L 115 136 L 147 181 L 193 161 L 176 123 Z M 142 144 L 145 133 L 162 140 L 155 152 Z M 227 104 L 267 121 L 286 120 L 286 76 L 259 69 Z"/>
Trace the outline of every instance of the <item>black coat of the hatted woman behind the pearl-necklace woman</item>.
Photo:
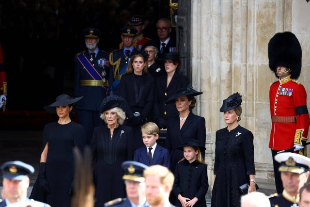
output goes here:
<path id="1" fill-rule="evenodd" d="M 154 119 L 159 128 L 167 128 L 168 118 L 178 115 L 175 104 L 165 104 L 165 102 L 175 94 L 176 90 L 186 88 L 189 84 L 187 77 L 175 71 L 173 77 L 167 87 L 167 74 L 156 78 L 155 80 L 155 103 L 154 103 Z"/>

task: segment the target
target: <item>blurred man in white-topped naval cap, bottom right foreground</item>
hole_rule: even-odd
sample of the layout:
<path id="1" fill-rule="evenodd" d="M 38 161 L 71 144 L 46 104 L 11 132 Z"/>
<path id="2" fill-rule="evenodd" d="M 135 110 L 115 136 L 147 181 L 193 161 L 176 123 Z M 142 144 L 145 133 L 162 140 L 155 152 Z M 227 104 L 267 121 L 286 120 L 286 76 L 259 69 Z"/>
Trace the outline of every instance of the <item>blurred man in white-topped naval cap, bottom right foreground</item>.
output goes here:
<path id="1" fill-rule="evenodd" d="M 310 175 L 310 158 L 292 152 L 284 152 L 275 156 L 279 162 L 279 172 L 284 190 L 279 195 L 271 195 L 272 207 L 298 207 L 299 190 L 307 182 Z"/>

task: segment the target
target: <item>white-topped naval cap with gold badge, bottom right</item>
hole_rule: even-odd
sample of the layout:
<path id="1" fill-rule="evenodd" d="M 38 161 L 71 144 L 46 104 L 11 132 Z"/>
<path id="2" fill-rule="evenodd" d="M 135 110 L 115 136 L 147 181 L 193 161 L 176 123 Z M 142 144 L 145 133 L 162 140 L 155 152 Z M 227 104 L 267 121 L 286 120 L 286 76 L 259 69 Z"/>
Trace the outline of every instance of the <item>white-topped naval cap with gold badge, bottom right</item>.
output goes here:
<path id="1" fill-rule="evenodd" d="M 302 174 L 309 171 L 310 158 L 292 152 L 283 152 L 275 156 L 280 163 L 279 172 Z"/>

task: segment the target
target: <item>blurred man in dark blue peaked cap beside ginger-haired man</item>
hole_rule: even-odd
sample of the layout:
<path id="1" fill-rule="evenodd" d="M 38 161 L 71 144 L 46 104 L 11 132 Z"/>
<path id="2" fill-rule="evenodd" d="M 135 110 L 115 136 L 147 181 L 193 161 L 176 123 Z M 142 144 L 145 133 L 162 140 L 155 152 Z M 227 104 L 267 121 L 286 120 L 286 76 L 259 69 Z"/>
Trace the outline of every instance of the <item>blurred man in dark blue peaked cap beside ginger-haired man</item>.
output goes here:
<path id="1" fill-rule="evenodd" d="M 145 183 L 143 170 L 148 168 L 145 164 L 136 161 L 124 161 L 123 180 L 126 185 L 126 198 L 117 198 L 105 203 L 105 207 L 147 207 L 145 197 Z"/>

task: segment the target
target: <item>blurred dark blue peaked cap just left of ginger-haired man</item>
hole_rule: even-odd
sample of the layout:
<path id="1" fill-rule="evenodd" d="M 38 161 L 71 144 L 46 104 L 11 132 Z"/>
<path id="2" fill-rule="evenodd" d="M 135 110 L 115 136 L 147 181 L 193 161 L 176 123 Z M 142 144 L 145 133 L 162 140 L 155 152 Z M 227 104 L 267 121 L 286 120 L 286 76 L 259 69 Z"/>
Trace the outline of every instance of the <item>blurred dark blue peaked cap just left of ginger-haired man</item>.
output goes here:
<path id="1" fill-rule="evenodd" d="M 124 170 L 123 180 L 144 182 L 143 171 L 148 168 L 147 165 L 136 161 L 124 161 L 122 168 Z"/>

